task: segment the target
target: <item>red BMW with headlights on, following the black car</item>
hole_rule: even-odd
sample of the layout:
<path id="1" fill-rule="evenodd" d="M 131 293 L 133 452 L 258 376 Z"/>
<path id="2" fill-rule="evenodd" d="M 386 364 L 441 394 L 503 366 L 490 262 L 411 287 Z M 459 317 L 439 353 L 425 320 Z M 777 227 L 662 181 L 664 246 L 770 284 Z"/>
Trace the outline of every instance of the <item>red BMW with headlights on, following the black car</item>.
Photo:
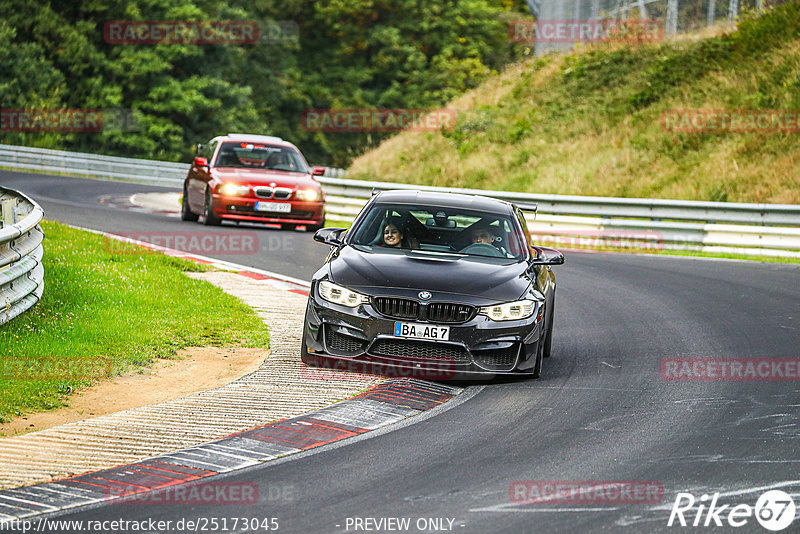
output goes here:
<path id="1" fill-rule="evenodd" d="M 325 195 L 292 143 L 279 137 L 228 134 L 198 145 L 183 183 L 181 219 L 218 225 L 223 220 L 305 226 L 325 225 Z"/>

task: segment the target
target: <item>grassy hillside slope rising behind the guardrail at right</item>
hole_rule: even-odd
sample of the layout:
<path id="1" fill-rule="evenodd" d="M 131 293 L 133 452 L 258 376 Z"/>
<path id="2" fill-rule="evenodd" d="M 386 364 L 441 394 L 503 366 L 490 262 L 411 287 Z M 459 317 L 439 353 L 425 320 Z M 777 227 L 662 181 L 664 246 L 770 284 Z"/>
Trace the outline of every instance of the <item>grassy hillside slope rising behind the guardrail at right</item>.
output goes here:
<path id="1" fill-rule="evenodd" d="M 800 110 L 800 2 L 738 30 L 530 59 L 404 132 L 351 177 L 536 193 L 800 203 L 800 133 L 679 133 L 684 110 Z"/>

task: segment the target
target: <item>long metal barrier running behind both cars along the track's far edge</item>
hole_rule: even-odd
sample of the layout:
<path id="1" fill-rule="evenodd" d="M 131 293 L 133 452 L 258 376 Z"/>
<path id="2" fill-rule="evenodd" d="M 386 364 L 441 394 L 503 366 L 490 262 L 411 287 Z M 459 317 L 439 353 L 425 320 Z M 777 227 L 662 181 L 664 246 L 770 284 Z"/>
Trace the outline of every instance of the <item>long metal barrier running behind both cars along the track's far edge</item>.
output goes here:
<path id="1" fill-rule="evenodd" d="M 180 187 L 188 164 L 97 156 L 0 145 L 0 167 L 63 172 Z M 351 221 L 379 189 L 421 189 L 495 197 L 536 204 L 529 228 L 543 244 L 563 248 L 672 249 L 800 257 L 800 206 L 641 198 L 541 195 L 453 189 L 339 178 L 326 168 L 327 219 Z"/>

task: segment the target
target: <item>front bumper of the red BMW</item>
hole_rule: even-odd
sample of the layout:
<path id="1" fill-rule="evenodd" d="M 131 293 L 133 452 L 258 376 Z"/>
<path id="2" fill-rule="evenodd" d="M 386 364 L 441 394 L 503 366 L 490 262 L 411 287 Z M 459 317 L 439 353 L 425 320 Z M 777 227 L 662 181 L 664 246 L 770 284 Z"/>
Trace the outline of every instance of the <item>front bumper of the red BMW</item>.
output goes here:
<path id="1" fill-rule="evenodd" d="M 220 219 L 273 224 L 321 226 L 325 223 L 325 202 L 299 200 L 265 200 L 214 194 L 214 215 Z M 289 204 L 289 212 L 256 211 L 256 202 Z"/>

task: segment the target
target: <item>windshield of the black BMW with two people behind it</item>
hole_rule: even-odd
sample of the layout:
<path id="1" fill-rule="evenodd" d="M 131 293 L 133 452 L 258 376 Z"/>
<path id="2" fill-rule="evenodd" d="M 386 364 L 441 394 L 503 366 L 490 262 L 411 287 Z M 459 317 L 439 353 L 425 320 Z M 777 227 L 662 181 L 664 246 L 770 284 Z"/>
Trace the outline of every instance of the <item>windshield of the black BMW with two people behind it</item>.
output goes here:
<path id="1" fill-rule="evenodd" d="M 360 250 L 409 249 L 522 260 L 526 240 L 509 215 L 462 208 L 375 204 L 350 244 Z"/>

